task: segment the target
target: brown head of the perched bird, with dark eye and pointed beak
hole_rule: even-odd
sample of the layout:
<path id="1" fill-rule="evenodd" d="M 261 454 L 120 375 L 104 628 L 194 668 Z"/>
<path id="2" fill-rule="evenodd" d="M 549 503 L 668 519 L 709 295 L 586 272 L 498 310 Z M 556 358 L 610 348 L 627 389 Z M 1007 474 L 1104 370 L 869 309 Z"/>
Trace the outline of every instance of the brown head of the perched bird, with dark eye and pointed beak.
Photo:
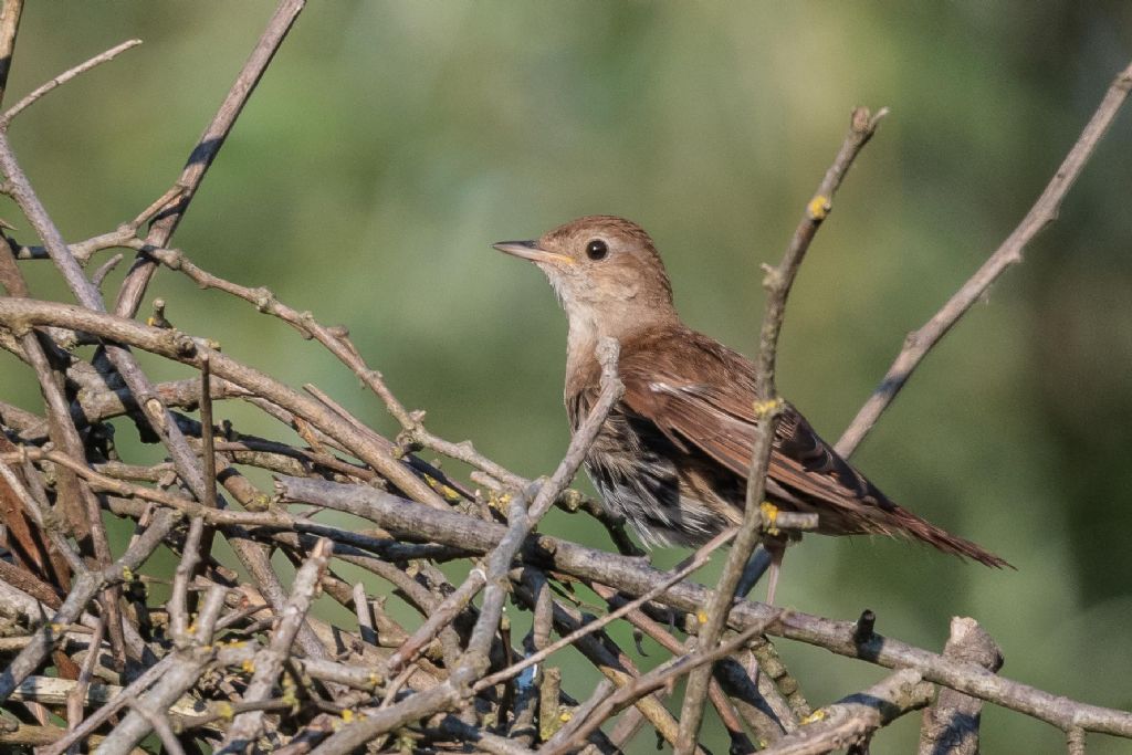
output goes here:
<path id="1" fill-rule="evenodd" d="M 532 241 L 494 246 L 546 273 L 572 332 L 624 337 L 676 316 L 672 286 L 652 239 L 625 218 L 588 215 Z"/>

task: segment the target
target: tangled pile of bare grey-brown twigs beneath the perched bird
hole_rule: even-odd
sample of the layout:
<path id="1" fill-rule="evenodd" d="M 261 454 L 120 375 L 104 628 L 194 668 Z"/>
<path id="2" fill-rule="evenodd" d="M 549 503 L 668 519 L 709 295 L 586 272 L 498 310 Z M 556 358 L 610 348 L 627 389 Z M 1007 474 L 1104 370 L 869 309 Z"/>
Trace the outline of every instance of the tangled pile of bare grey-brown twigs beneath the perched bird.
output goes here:
<path id="1" fill-rule="evenodd" d="M 996 676 L 994 643 L 969 619 L 957 620 L 943 654 L 881 637 L 866 612 L 856 623 L 732 600 L 739 572 L 758 539 L 757 514 L 671 573 L 638 558 L 620 523 L 568 490 L 598 427 L 620 395 L 617 345 L 604 343 L 602 397 L 548 479 L 531 481 L 429 432 L 406 410 L 341 328 L 278 301 L 266 289 L 218 277 L 170 246 L 178 222 L 224 137 L 302 7 L 283 0 L 214 121 L 177 182 L 128 223 L 68 244 L 29 185 L 6 130 L 12 118 L 60 84 L 110 60 L 119 45 L 68 71 L 0 117 L 3 194 L 26 215 L 42 246 L 6 237 L 0 254 L 0 346 L 38 380 L 43 414 L 0 403 L 0 558 L 3 634 L 0 640 L 0 743 L 60 755 L 78 745 L 104 753 L 139 750 L 155 733 L 171 753 L 288 753 L 474 749 L 560 754 L 616 752 L 648 723 L 678 752 L 695 752 L 704 702 L 710 702 L 736 752 L 863 752 L 876 729 L 929 705 L 921 752 L 977 748 L 980 701 L 1047 721 L 1083 752 L 1084 732 L 1132 738 L 1132 714 L 1057 697 Z M 0 59 L 14 50 L 20 2 L 0 14 Z M 6 77 L 7 69 L 0 76 Z M 5 80 L 0 79 L 0 87 Z M 1132 86 L 1132 68 L 1109 89 L 1078 145 L 1034 211 L 979 273 L 901 351 L 877 394 L 842 438 L 851 453 L 927 350 L 986 291 L 1032 235 L 1053 218 L 1061 198 Z M 2 94 L 2 89 L 0 89 Z M 773 398 L 773 357 L 789 281 L 830 208 L 852 156 L 876 127 L 855 112 L 849 136 L 791 243 L 769 275 L 771 303 L 763 331 L 761 384 Z M 113 308 L 101 284 L 121 257 L 96 271 L 96 252 L 134 250 Z M 77 306 L 36 301 L 17 260 L 50 259 Z M 45 264 L 29 261 L 27 264 Z M 218 352 L 205 337 L 172 327 L 161 307 L 135 319 L 158 268 L 188 276 L 277 317 L 314 338 L 354 372 L 402 427 L 388 439 L 314 386 L 306 393 Z M 201 294 L 207 295 L 207 294 Z M 93 345 L 93 350 L 79 346 Z M 154 384 L 135 352 L 188 364 L 199 379 Z M 89 358 L 80 354 L 91 353 Z M 217 426 L 214 404 L 248 402 L 280 422 L 297 445 Z M 198 412 L 192 417 L 192 412 Z M 163 444 L 170 461 L 131 464 L 119 457 L 108 422 L 129 417 L 144 440 Z M 767 423 L 769 427 L 769 423 Z M 769 444 L 766 434 L 764 445 Z M 471 464 L 471 484 L 449 479 L 415 455 L 428 449 Z M 756 464 L 758 458 L 756 455 Z M 275 489 L 246 477 L 266 470 Z M 765 456 L 762 467 L 765 471 Z M 754 499 L 761 497 L 754 474 Z M 604 525 L 621 554 L 540 535 L 558 506 Z M 751 507 L 757 511 L 757 507 Z M 348 530 L 319 520 L 324 511 L 366 521 Z M 123 517 L 135 534 L 121 552 L 104 516 Z M 805 517 L 780 527 L 805 526 Z M 710 590 L 687 577 L 715 548 L 737 537 L 723 582 Z M 215 557 L 226 541 L 243 567 Z M 162 606 L 147 585 L 160 548 L 177 554 L 171 598 Z M 284 584 L 273 566 L 282 554 L 298 570 Z M 466 565 L 449 582 L 440 564 Z M 365 583 L 335 570 L 350 564 L 374 575 L 415 609 L 420 621 L 395 620 Z M 589 612 L 569 586 L 580 583 L 607 601 Z M 357 621 L 332 625 L 311 615 L 326 593 Z M 477 599 L 479 599 L 477 601 Z M 504 616 L 511 602 L 533 616 L 524 637 Z M 671 652 L 641 672 L 606 632 L 627 621 Z M 679 635 L 685 635 L 685 641 Z M 558 635 L 559 640 L 554 640 Z M 782 666 L 771 637 L 898 669 L 876 686 L 812 711 Z M 555 653 L 573 646 L 601 672 L 593 689 L 564 684 Z M 757 669 L 757 671 L 756 671 Z M 672 684 L 693 676 L 677 719 L 666 704 Z M 941 692 L 936 693 L 936 687 Z M 624 712 L 624 713 L 623 713 Z M 58 726 L 52 714 L 65 717 Z M 619 714 L 616 723 L 614 717 Z"/>

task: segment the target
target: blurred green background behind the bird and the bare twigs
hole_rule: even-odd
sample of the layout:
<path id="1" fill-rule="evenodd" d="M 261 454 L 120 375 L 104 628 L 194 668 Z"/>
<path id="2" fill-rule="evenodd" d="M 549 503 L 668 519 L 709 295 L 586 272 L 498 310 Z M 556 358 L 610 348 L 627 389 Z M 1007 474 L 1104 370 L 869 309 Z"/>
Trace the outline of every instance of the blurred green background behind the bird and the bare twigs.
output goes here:
<path id="1" fill-rule="evenodd" d="M 12 127 L 68 239 L 113 228 L 170 186 L 272 8 L 28 3 L 9 102 L 145 40 Z M 588 213 L 636 220 L 686 319 L 749 353 L 758 265 L 780 257 L 850 109 L 887 105 L 801 271 L 782 340 L 781 389 L 833 440 L 904 333 L 1022 217 L 1130 58 L 1124 1 L 312 3 L 175 243 L 348 325 L 434 431 L 534 477 L 567 441 L 565 319 L 542 276 L 490 242 Z M 781 602 L 841 618 L 872 608 L 880 632 L 933 649 L 951 616 L 974 616 L 1001 643 L 1004 675 L 1132 704 L 1130 186 L 1123 112 L 1057 224 L 933 352 L 856 457 L 894 499 L 1018 570 L 812 537 L 787 558 Z M 16 208 L 2 213 L 31 242 Z M 46 264 L 24 267 L 35 295 L 69 301 Z M 155 295 L 179 327 L 393 431 L 351 375 L 277 321 L 166 271 Z M 7 354 L 0 381 L 5 400 L 40 407 Z M 246 407 L 218 412 L 277 434 Z M 544 529 L 607 544 L 564 515 Z M 884 674 L 780 647 L 815 704 Z M 566 687 L 584 697 L 593 680 Z M 984 719 L 986 752 L 1062 747 L 1061 732 L 1021 715 Z M 909 752 L 917 726 L 908 717 L 874 752 Z M 704 741 L 726 752 L 714 719 Z M 1089 745 L 1129 750 L 1100 736 Z M 636 747 L 651 752 L 651 738 Z"/>

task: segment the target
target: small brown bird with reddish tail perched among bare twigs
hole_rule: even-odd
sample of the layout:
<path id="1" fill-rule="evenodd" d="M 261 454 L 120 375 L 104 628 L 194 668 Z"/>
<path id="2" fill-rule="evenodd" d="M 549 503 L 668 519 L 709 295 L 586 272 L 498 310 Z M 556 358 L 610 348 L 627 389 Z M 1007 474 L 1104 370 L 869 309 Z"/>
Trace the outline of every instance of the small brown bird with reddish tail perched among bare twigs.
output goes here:
<path id="1" fill-rule="evenodd" d="M 625 394 L 585 460 L 606 507 L 646 544 L 698 546 L 741 523 L 757 422 L 755 366 L 680 321 L 649 234 L 631 221 L 592 215 L 495 248 L 538 265 L 566 310 L 572 431 L 599 395 L 599 338 L 620 343 Z M 824 534 L 903 535 L 1007 565 L 889 500 L 790 404 L 779 418 L 766 495 L 784 511 L 816 513 Z"/>

